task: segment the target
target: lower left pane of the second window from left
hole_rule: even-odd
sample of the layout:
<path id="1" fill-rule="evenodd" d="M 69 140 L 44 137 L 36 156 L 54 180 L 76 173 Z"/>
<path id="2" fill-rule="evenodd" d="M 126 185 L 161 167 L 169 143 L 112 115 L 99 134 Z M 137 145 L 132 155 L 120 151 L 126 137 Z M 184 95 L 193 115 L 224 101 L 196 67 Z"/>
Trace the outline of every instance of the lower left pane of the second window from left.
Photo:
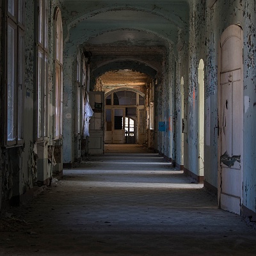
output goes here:
<path id="1" fill-rule="evenodd" d="M 43 86 L 43 70 L 44 67 L 44 58 L 42 52 L 38 52 L 38 118 L 37 118 L 37 136 L 38 138 L 42 137 L 42 86 Z"/>

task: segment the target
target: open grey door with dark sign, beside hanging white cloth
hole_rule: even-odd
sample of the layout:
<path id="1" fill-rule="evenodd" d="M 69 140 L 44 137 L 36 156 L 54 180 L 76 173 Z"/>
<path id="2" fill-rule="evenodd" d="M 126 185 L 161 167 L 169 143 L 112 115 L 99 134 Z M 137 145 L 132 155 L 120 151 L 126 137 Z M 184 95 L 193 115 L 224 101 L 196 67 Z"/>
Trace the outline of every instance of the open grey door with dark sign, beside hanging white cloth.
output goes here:
<path id="1" fill-rule="evenodd" d="M 90 119 L 89 154 L 104 153 L 104 92 L 90 92 L 89 103 L 93 109 Z"/>

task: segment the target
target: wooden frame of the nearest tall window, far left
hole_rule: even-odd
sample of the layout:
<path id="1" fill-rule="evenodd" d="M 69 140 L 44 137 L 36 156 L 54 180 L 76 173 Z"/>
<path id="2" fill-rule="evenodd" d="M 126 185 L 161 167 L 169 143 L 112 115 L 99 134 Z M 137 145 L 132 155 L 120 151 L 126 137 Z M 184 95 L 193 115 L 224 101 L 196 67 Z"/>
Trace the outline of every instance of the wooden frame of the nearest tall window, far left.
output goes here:
<path id="1" fill-rule="evenodd" d="M 9 12 L 9 3 L 12 2 L 13 12 Z M 20 7 L 21 6 L 21 7 Z M 4 138 L 1 140 L 1 145 L 4 147 L 16 147 L 23 145 L 24 143 L 24 69 L 25 69 L 25 50 L 24 50 L 24 16 L 25 5 L 23 0 L 6 1 L 4 8 L 4 15 L 6 19 L 3 19 L 3 28 L 5 28 L 5 39 L 3 40 L 2 49 L 4 52 L 3 61 L 5 68 L 3 72 L 4 81 L 4 122 L 2 124 L 4 131 Z M 22 15 L 20 22 L 19 15 Z M 13 49 L 12 60 L 9 58 L 9 28 L 13 29 Z M 12 65 L 12 74 L 9 77 L 9 65 Z M 12 81 L 9 87 L 9 81 Z M 12 88 L 11 88 L 12 87 Z M 11 90 L 10 90 L 11 88 Z M 8 104 L 8 92 L 11 91 L 12 108 L 10 109 Z M 2 105 L 3 106 L 3 105 Z M 12 112 L 12 138 L 8 138 L 10 134 L 9 127 L 9 111 Z"/>

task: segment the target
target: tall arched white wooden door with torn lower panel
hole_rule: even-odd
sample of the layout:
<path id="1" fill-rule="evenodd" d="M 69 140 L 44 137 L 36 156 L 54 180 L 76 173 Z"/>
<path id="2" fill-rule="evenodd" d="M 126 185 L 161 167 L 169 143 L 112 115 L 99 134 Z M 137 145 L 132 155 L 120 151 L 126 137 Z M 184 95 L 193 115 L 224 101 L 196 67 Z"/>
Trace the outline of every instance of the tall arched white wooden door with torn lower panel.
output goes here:
<path id="1" fill-rule="evenodd" d="M 243 31 L 228 27 L 221 36 L 218 140 L 219 204 L 240 214 L 243 201 Z"/>

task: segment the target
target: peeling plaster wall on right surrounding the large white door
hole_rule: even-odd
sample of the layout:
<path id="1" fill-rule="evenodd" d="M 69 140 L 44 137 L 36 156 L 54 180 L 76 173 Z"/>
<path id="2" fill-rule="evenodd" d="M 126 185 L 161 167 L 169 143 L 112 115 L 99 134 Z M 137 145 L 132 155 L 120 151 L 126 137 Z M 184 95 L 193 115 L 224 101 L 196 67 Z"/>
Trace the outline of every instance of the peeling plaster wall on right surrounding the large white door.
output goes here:
<path id="1" fill-rule="evenodd" d="M 256 212 L 256 146 L 255 146 L 255 1 L 216 1 L 207 8 L 204 1 L 194 1 L 191 6 L 189 39 L 189 79 L 188 79 L 188 126 L 197 125 L 197 68 L 202 58 L 205 68 L 205 180 L 218 187 L 218 47 L 223 31 L 232 24 L 239 24 L 244 33 L 244 193 L 243 205 Z M 184 79 L 186 84 L 186 79 Z M 186 87 L 186 86 L 185 86 Z M 195 91 L 195 106 L 193 94 Z M 186 96 L 185 96 L 186 101 Z M 189 129 L 186 137 L 185 153 L 188 157 L 185 167 L 197 170 L 196 129 Z"/>

